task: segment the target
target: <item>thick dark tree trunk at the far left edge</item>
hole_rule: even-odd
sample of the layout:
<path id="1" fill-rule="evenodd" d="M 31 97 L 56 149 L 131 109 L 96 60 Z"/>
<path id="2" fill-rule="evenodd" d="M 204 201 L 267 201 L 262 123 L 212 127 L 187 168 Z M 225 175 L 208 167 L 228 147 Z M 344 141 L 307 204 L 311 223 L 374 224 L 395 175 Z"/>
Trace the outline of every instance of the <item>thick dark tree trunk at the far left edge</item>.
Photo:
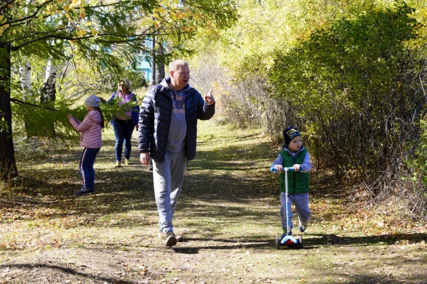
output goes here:
<path id="1" fill-rule="evenodd" d="M 12 140 L 10 108 L 10 50 L 0 48 L 0 181 L 18 176 Z"/>

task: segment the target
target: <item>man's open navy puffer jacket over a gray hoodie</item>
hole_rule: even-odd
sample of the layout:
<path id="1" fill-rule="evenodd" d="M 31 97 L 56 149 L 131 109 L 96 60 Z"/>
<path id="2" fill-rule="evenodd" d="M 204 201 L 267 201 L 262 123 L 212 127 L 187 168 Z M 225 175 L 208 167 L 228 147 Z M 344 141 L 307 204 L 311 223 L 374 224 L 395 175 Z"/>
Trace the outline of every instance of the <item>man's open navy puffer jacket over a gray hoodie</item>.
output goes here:
<path id="1" fill-rule="evenodd" d="M 197 120 L 211 119 L 214 114 L 215 104 L 208 105 L 196 89 L 189 88 L 185 97 L 187 161 L 196 157 Z M 140 152 L 149 152 L 151 159 L 158 162 L 164 161 L 171 115 L 171 90 L 161 84 L 155 85 L 142 101 L 138 123 L 138 148 Z"/>

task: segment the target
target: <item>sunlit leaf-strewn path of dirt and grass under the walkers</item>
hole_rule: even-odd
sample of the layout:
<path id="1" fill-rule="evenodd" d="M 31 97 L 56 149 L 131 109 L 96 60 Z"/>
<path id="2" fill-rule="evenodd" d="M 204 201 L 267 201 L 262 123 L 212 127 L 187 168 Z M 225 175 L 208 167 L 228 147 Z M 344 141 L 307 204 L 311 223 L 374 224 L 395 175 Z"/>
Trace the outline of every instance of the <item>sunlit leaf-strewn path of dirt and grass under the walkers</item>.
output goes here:
<path id="1" fill-rule="evenodd" d="M 0 283 L 427 283 L 425 225 L 356 212 L 316 172 L 305 248 L 276 250 L 278 176 L 268 167 L 278 149 L 259 132 L 200 123 L 174 216 L 184 242 L 172 248 L 157 237 L 136 141 L 135 163 L 114 169 L 108 132 L 97 194 L 80 198 L 79 148 L 37 153 L 18 153 L 28 179 L 0 199 Z"/>

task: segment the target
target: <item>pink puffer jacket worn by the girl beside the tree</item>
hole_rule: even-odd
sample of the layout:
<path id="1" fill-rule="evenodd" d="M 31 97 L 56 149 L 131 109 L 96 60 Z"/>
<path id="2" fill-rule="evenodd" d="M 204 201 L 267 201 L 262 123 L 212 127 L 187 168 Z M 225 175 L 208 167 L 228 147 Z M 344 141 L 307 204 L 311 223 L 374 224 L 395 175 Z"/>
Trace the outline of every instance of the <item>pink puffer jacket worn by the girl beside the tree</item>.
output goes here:
<path id="1" fill-rule="evenodd" d="M 82 132 L 80 146 L 84 148 L 98 149 L 102 146 L 102 117 L 97 110 L 91 110 L 82 122 L 74 117 L 70 119 L 71 125 L 78 132 Z"/>

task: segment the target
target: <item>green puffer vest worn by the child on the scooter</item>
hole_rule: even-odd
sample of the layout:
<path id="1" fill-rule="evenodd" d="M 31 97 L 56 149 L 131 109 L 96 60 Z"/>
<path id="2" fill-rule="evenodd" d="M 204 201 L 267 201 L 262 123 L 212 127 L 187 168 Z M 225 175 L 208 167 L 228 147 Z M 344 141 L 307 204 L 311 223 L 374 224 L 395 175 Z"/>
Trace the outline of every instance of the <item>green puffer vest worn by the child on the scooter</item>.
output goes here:
<path id="1" fill-rule="evenodd" d="M 283 159 L 283 167 L 290 168 L 293 165 L 302 164 L 304 162 L 305 153 L 307 150 L 304 149 L 292 158 L 290 152 L 287 150 L 281 150 L 281 156 Z M 310 175 L 308 172 L 287 172 L 287 189 L 290 194 L 305 193 L 308 192 L 310 186 Z M 285 188 L 285 172 L 281 172 L 281 192 L 286 192 Z"/>

